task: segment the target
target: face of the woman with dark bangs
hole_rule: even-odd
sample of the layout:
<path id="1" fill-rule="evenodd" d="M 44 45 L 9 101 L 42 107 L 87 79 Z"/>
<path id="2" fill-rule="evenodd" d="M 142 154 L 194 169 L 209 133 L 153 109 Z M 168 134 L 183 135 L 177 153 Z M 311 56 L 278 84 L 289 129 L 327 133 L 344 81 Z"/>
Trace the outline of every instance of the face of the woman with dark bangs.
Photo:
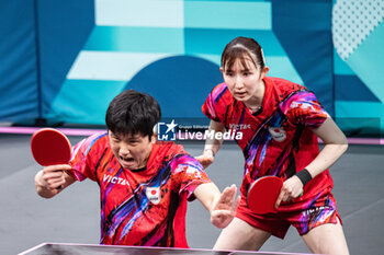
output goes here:
<path id="1" fill-rule="evenodd" d="M 252 105 L 255 102 L 259 102 L 257 97 L 262 97 L 262 79 L 266 77 L 268 68 L 261 70 L 255 66 L 251 59 L 246 58 L 245 61 L 236 59 L 231 67 L 224 67 L 221 70 L 229 92 L 237 101 Z"/>

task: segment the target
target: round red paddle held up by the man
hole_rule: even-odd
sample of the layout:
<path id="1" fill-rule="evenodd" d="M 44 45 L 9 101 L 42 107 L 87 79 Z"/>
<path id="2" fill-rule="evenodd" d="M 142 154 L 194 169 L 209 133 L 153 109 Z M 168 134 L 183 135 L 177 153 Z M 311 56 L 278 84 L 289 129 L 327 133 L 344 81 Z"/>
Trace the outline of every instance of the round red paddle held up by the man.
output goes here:
<path id="1" fill-rule="evenodd" d="M 68 138 L 54 128 L 43 128 L 33 134 L 31 151 L 35 161 L 43 166 L 68 164 L 71 157 Z"/>

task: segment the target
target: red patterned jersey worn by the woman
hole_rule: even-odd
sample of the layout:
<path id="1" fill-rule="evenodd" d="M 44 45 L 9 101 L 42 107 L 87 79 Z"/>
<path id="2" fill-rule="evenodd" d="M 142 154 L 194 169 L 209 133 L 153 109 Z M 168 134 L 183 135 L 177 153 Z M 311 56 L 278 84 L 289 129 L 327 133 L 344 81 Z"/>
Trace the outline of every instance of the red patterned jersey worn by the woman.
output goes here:
<path id="1" fill-rule="evenodd" d="M 249 185 L 264 175 L 286 179 L 303 170 L 319 153 L 316 135 L 329 115 L 306 88 L 279 78 L 264 78 L 266 91 L 262 109 L 257 115 L 230 94 L 227 85 L 216 85 L 202 106 L 212 120 L 222 123 L 245 157 L 241 195 L 247 196 Z M 238 136 L 241 132 L 241 136 Z M 332 188 L 328 170 L 313 178 L 304 195 L 282 202 L 279 210 L 302 210 L 309 200 Z"/>

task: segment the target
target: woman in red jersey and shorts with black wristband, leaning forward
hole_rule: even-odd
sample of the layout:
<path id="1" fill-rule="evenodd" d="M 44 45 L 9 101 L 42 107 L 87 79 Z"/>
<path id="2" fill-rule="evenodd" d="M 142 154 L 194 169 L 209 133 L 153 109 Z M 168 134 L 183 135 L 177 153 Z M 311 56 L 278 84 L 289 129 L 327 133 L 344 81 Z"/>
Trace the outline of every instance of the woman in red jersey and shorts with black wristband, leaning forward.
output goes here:
<path id="1" fill-rule="evenodd" d="M 272 234 L 283 239 L 292 224 L 312 252 L 349 254 L 328 172 L 348 148 L 342 131 L 313 92 L 267 77 L 269 67 L 255 39 L 233 39 L 221 63 L 224 83 L 212 90 L 202 108 L 211 130 L 242 132 L 237 143 L 245 155 L 245 172 L 236 218 L 214 248 L 259 250 Z M 318 137 L 325 143 L 320 152 Z M 222 140 L 206 140 L 196 159 L 206 167 L 221 144 Z M 246 196 L 249 185 L 264 175 L 284 183 L 278 212 L 258 215 L 247 207 Z"/>

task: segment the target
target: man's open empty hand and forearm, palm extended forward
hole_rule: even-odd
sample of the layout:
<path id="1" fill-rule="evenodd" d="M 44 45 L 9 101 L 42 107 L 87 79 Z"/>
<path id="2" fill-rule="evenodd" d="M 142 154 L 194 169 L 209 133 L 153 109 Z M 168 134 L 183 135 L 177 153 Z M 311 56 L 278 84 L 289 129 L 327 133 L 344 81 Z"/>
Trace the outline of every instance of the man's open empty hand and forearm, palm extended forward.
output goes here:
<path id="1" fill-rule="evenodd" d="M 217 228 L 227 227 L 236 215 L 240 196 L 236 198 L 237 187 L 233 184 L 221 194 L 213 183 L 202 184 L 194 195 L 211 213 L 211 223 Z"/>

